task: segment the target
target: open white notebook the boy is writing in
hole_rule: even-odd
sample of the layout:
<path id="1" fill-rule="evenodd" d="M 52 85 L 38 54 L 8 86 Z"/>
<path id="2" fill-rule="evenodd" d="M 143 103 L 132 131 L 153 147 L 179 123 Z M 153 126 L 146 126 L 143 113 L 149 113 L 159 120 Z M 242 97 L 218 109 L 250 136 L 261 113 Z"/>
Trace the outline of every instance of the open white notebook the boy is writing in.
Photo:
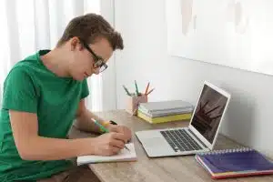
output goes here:
<path id="1" fill-rule="evenodd" d="M 136 150 L 134 147 L 134 143 L 126 144 L 126 147 L 128 147 L 130 151 L 124 148 L 115 156 L 106 157 L 106 156 L 91 155 L 91 156 L 77 157 L 76 163 L 78 166 L 80 166 L 80 165 L 103 163 L 103 162 L 136 161 Z"/>

